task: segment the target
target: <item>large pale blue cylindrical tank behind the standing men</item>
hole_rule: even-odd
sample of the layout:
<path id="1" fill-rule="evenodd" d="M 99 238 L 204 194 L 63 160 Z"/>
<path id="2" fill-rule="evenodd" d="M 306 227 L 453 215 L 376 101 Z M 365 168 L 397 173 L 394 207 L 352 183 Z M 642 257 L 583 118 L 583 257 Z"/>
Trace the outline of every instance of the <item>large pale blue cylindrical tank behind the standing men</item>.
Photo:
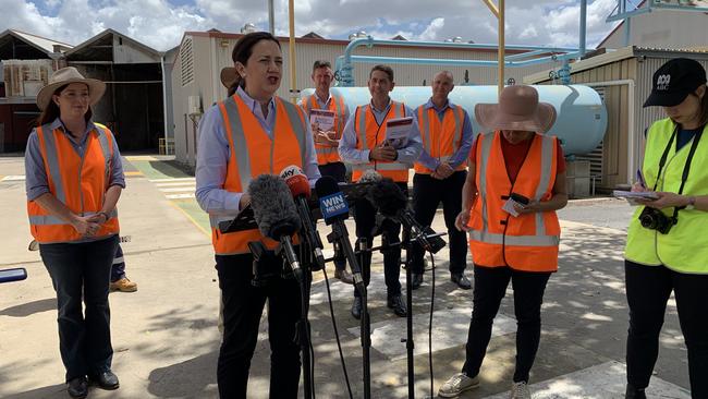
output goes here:
<path id="1" fill-rule="evenodd" d="M 588 154 L 600 144 L 607 130 L 608 117 L 607 108 L 597 92 L 583 85 L 534 87 L 541 101 L 556 108 L 558 118 L 548 134 L 561 140 L 565 155 Z M 484 130 L 475 120 L 475 105 L 496 104 L 497 90 L 497 86 L 455 86 L 450 93 L 450 100 L 469 113 L 473 131 L 479 133 Z M 302 96 L 313 93 L 314 89 L 308 88 L 302 92 Z M 332 87 L 331 93 L 344 97 L 350 111 L 371 99 L 368 87 Z M 399 86 L 391 92 L 391 98 L 414 109 L 426 102 L 430 95 L 429 86 Z"/>

